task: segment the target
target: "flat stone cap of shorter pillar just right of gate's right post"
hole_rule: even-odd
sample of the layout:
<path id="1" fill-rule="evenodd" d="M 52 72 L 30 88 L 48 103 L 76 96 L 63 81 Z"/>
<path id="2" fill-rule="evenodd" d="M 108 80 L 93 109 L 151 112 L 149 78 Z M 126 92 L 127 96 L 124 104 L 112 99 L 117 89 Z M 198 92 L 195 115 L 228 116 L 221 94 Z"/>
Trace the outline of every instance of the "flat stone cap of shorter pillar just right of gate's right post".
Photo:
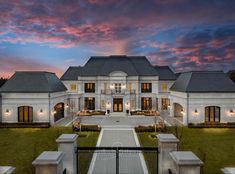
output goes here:
<path id="1" fill-rule="evenodd" d="M 180 166 L 197 165 L 202 166 L 203 162 L 191 151 L 170 152 L 170 156 Z"/>

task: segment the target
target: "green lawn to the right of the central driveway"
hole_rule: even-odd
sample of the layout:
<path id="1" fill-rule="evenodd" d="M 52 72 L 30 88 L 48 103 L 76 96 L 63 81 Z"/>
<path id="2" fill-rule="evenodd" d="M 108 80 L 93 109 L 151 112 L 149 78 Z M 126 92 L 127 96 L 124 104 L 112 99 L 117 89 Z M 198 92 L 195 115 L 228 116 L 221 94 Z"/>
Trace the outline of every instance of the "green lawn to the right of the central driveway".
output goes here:
<path id="1" fill-rule="evenodd" d="M 175 134 L 176 131 L 175 128 L 170 128 L 168 132 Z M 203 173 L 217 174 L 221 173 L 220 169 L 223 167 L 235 166 L 235 129 L 182 127 L 178 132 L 181 137 L 179 149 L 193 151 L 203 160 Z M 157 146 L 157 140 L 151 134 L 153 133 L 138 133 L 142 146 Z M 154 160 L 146 158 L 150 170 L 154 166 Z"/>

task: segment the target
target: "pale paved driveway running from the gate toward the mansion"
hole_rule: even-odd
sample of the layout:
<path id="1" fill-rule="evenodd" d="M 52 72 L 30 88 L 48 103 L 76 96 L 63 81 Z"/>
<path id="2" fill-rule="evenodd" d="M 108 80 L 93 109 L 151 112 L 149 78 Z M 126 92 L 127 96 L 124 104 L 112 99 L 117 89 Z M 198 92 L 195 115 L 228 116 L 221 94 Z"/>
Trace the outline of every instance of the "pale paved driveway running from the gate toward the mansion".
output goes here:
<path id="1" fill-rule="evenodd" d="M 103 128 L 97 146 L 108 147 L 138 147 L 139 141 L 134 129 L 110 129 Z M 94 153 L 88 173 L 92 174 L 114 174 L 116 173 L 115 151 L 97 151 Z M 148 173 L 143 154 L 119 153 L 120 174 L 142 174 Z"/>

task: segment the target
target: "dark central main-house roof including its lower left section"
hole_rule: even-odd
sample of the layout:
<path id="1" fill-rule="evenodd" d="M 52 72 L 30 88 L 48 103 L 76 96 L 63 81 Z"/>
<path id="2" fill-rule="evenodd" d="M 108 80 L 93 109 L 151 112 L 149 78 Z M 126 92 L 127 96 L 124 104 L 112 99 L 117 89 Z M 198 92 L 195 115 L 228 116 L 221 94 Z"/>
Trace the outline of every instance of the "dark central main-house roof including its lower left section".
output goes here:
<path id="1" fill-rule="evenodd" d="M 123 71 L 129 76 L 158 75 L 145 56 L 92 56 L 83 67 L 70 67 L 61 80 L 76 80 L 77 76 L 108 76 L 113 71 Z"/>

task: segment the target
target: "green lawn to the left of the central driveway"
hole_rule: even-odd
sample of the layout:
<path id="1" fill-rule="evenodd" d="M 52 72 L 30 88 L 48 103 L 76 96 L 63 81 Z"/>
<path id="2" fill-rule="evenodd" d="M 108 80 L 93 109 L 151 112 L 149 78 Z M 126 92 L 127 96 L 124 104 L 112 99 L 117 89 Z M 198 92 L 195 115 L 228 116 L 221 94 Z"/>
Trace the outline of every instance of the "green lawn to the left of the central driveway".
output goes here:
<path id="1" fill-rule="evenodd" d="M 62 133 L 72 133 L 71 128 L 18 128 L 0 129 L 0 166 L 16 167 L 16 173 L 33 173 L 32 161 L 43 151 L 57 150 L 55 140 Z M 78 133 L 79 134 L 79 133 Z M 98 132 L 82 132 L 78 146 L 95 146 Z M 92 155 L 85 157 L 83 171 L 89 167 Z"/>

